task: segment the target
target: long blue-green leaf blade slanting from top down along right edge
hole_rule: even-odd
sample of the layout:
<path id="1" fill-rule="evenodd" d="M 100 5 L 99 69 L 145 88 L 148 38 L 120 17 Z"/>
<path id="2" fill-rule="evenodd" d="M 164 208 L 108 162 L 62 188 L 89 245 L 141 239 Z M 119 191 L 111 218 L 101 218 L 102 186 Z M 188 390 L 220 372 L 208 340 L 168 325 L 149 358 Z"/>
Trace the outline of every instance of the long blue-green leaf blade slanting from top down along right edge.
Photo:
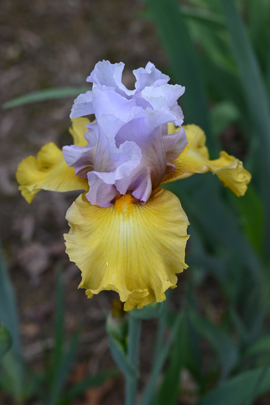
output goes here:
<path id="1" fill-rule="evenodd" d="M 256 135 L 260 139 L 260 150 L 257 160 L 257 181 L 265 207 L 270 204 L 270 190 L 266 187 L 270 175 L 270 108 L 261 72 L 251 48 L 244 24 L 233 0 L 221 0 L 226 17 L 227 27 L 232 39 L 232 49 L 238 64 L 242 86 L 253 119 Z M 251 131 L 252 134 L 252 131 Z M 270 212 L 267 210 L 266 235 L 270 235 Z M 266 238 L 267 240 L 267 238 Z M 267 247 L 267 253 L 268 252 Z"/>

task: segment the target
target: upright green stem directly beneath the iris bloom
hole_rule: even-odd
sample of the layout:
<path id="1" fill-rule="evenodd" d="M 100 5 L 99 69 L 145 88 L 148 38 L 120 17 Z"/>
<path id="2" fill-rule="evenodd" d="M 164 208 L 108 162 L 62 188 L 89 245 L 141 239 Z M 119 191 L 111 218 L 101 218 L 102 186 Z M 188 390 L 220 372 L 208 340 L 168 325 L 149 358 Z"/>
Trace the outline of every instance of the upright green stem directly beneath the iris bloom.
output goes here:
<path id="1" fill-rule="evenodd" d="M 129 315 L 129 337 L 128 337 L 128 359 L 138 370 L 139 366 L 139 345 L 141 334 L 141 320 Z M 136 404 L 138 375 L 130 377 L 126 375 L 126 405 Z"/>

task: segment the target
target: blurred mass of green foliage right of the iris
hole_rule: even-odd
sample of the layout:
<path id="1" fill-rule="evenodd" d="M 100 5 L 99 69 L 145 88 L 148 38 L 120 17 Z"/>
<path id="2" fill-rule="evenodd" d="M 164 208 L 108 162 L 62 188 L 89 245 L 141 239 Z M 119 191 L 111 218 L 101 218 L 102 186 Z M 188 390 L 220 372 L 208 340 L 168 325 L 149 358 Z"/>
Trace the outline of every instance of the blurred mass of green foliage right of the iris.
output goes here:
<path id="1" fill-rule="evenodd" d="M 179 378 L 170 384 L 174 380 L 168 375 L 188 370 L 197 387 L 193 394 L 201 398 L 198 405 L 252 404 L 270 392 L 270 3 L 146 0 L 146 6 L 167 50 L 171 77 L 186 86 L 185 122 L 205 129 L 213 157 L 221 149 L 221 133 L 237 128 L 244 165 L 253 176 L 242 198 L 222 190 L 210 176 L 168 187 L 191 224 L 186 257 L 191 269 L 183 298 L 185 332 L 179 330 L 176 338 L 184 348 L 174 347 L 156 403 L 160 398 L 177 403 L 185 387 Z M 194 296 L 209 276 L 226 302 L 218 323 L 202 315 L 206 309 Z M 207 367 L 201 362 L 204 341 L 212 349 Z"/>

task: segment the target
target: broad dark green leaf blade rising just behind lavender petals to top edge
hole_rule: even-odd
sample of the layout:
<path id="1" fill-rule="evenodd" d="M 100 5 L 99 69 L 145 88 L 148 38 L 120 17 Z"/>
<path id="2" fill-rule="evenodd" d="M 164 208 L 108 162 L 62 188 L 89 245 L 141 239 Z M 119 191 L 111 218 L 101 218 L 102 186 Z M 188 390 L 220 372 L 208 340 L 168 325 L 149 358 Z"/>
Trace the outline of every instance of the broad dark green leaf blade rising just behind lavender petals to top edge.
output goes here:
<path id="1" fill-rule="evenodd" d="M 161 40 L 167 50 L 173 76 L 186 90 L 181 98 L 186 123 L 200 125 L 210 133 L 207 103 L 202 85 L 199 61 L 176 0 L 147 0 Z M 208 138 L 211 142 L 211 138 Z M 213 145 L 210 145 L 213 148 Z"/>

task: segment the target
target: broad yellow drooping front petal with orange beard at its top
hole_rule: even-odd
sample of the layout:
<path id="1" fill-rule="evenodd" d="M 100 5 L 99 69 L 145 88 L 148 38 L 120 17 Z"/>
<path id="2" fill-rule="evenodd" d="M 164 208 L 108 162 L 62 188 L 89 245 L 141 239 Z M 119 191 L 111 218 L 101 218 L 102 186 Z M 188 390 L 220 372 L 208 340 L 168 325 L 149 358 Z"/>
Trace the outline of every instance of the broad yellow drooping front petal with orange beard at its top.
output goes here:
<path id="1" fill-rule="evenodd" d="M 145 205 L 129 194 L 111 207 L 91 205 L 82 194 L 68 209 L 66 252 L 82 271 L 89 298 L 114 290 L 124 309 L 156 300 L 176 287 L 184 263 L 188 220 L 171 192 L 155 190 Z"/>

